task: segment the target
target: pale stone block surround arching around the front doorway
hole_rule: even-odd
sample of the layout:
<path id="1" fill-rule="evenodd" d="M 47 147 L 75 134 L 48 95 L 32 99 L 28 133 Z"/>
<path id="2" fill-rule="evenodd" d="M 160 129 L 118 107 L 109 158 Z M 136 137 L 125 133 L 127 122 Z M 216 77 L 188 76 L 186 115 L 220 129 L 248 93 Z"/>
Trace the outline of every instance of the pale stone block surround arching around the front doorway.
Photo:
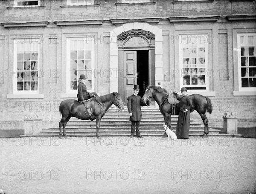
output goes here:
<path id="1" fill-rule="evenodd" d="M 129 33 L 127 33 L 129 32 Z M 148 42 L 148 50 L 141 47 L 134 47 L 131 50 L 124 46 L 124 40 L 132 36 L 140 36 Z M 119 40 L 117 40 L 119 39 Z M 123 40 L 122 40 L 123 39 Z M 139 41 L 138 41 L 139 42 Z M 119 44 L 119 45 L 118 45 Z M 153 46 L 154 45 L 154 46 Z M 153 47 L 152 47 L 153 46 Z M 123 48 L 122 48 L 123 47 Z M 151 48 L 150 48 L 151 47 Z M 135 50 L 135 48 L 137 50 Z M 123 50 L 122 50 L 123 49 Z M 110 76 L 109 92 L 119 92 L 122 99 L 126 102 L 127 98 L 124 92 L 124 76 L 121 76 L 120 71 L 124 67 L 124 52 L 128 51 L 148 51 L 148 73 L 149 84 L 163 87 L 163 35 L 162 29 L 157 26 L 150 25 L 146 22 L 128 22 L 110 31 L 110 71 L 113 72 Z M 140 50 L 141 49 L 141 50 Z M 143 51 L 141 51 L 143 52 Z M 137 52 L 138 55 L 138 52 Z M 119 72 L 116 74 L 116 72 Z M 128 80 L 131 81 L 131 80 Z"/>

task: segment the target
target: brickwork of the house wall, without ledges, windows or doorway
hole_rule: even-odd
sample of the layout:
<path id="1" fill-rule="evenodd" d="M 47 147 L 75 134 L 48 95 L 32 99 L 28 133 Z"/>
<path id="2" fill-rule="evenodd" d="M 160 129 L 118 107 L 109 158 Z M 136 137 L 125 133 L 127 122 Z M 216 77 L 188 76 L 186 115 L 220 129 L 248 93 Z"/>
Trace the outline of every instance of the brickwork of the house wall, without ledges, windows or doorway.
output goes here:
<path id="1" fill-rule="evenodd" d="M 233 64 L 233 28 L 236 24 L 232 24 L 226 20 L 226 15 L 231 14 L 253 14 L 255 13 L 255 3 L 253 1 L 230 1 L 230 0 L 215 0 L 205 2 L 173 2 L 169 0 L 157 0 L 156 4 L 143 5 L 124 5 L 116 6 L 116 0 L 98 1 L 99 6 L 84 6 L 70 7 L 66 6 L 65 1 L 47 2 L 44 8 L 9 8 L 8 1 L 0 2 L 0 18 L 1 23 L 4 22 L 29 22 L 29 21 L 49 21 L 45 28 L 26 27 L 26 28 L 3 28 L 0 26 L 1 35 L 13 34 L 41 34 L 44 37 L 44 42 L 41 44 L 42 56 L 41 67 L 44 70 L 42 79 L 42 90 L 44 98 L 42 99 L 7 99 L 7 94 L 12 93 L 12 77 L 1 74 L 1 111 L 0 124 L 1 129 L 23 129 L 24 117 L 31 112 L 37 112 L 40 118 L 43 119 L 43 128 L 56 127 L 61 119 L 58 112 L 58 105 L 61 101 L 67 98 L 60 98 L 60 94 L 65 92 L 65 52 L 63 44 L 65 34 L 87 33 L 97 34 L 97 37 L 106 37 L 105 41 L 97 41 L 95 64 L 97 70 L 105 70 L 109 68 L 110 63 L 110 31 L 116 28 L 110 19 L 138 18 L 147 17 L 162 18 L 158 23 L 151 23 L 163 30 L 163 87 L 169 92 L 173 89 L 179 90 L 177 86 L 177 77 L 171 75 L 171 70 L 177 67 L 177 45 L 172 42 L 172 35 L 180 26 L 189 26 L 191 33 L 195 30 L 211 31 L 215 37 L 214 43 L 209 45 L 210 65 L 214 70 L 214 77 L 211 78 L 212 91 L 215 91 L 215 96 L 209 96 L 212 100 L 213 112 L 207 113 L 210 127 L 222 127 L 222 115 L 224 111 L 236 112 L 238 117 L 239 127 L 255 126 L 256 121 L 256 96 L 233 96 L 234 82 L 237 79 L 234 77 Z M 187 22 L 170 23 L 166 18 L 178 16 L 211 16 L 221 15 L 218 22 L 195 22 L 193 24 Z M 100 26 L 72 26 L 61 28 L 53 21 L 61 20 L 88 20 L 88 19 L 103 19 L 105 20 Z M 232 25 L 234 25 L 232 27 Z M 243 26 L 243 21 L 237 25 Z M 193 28 L 191 27 L 193 26 Z M 247 26 L 256 28 L 255 23 L 249 22 Z M 50 34 L 56 34 L 57 39 L 49 39 Z M 229 43 L 225 42 L 225 38 L 229 38 Z M 49 41 L 57 41 L 58 44 L 51 45 Z M 13 64 L 13 48 L 12 42 L 1 39 L 0 56 L 1 69 L 12 68 Z M 53 68 L 54 67 L 54 68 Z M 52 70 L 58 69 L 58 77 L 53 77 Z M 51 74 L 49 76 L 49 72 Z M 228 73 L 226 75 L 226 73 Z M 178 78 L 179 79 L 179 78 Z M 110 80 L 108 76 L 96 75 L 95 88 L 100 95 L 109 92 Z M 195 121 L 202 122 L 198 113 L 192 113 L 192 118 Z"/>

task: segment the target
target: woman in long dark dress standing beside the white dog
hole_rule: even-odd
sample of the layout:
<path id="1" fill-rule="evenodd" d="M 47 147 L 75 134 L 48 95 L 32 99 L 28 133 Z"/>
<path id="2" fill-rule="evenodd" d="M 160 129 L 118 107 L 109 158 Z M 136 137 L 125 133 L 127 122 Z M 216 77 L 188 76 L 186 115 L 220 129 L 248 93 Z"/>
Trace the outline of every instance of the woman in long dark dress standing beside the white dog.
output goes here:
<path id="1" fill-rule="evenodd" d="M 190 109 L 193 107 L 191 99 L 187 96 L 186 87 L 180 90 L 182 96 L 177 95 L 180 100 L 180 112 L 177 121 L 176 135 L 178 139 L 189 138 Z M 175 92 L 177 94 L 177 92 Z"/>

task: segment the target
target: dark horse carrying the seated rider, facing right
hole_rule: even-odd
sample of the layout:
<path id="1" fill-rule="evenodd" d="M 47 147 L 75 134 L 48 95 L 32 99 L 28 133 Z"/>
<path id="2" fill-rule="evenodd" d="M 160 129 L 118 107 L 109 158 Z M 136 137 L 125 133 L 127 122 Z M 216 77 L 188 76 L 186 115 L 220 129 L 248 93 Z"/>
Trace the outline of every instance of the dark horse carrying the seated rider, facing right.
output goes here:
<path id="1" fill-rule="evenodd" d="M 63 127 L 63 135 L 66 138 L 66 124 L 70 120 L 71 117 L 76 117 L 82 120 L 90 119 L 93 121 L 96 119 L 96 136 L 99 138 L 99 125 L 101 118 L 105 115 L 106 111 L 112 104 L 116 105 L 119 110 L 124 110 L 124 104 L 119 93 L 111 93 L 104 96 L 99 96 L 97 98 L 92 98 L 89 102 L 87 102 L 87 106 L 89 105 L 92 108 L 93 118 L 86 108 L 84 104 L 81 104 L 79 101 L 74 99 L 68 99 L 61 102 L 59 106 L 59 112 L 62 115 L 61 121 L 59 122 L 60 127 L 60 138 L 61 136 L 61 127 Z"/>

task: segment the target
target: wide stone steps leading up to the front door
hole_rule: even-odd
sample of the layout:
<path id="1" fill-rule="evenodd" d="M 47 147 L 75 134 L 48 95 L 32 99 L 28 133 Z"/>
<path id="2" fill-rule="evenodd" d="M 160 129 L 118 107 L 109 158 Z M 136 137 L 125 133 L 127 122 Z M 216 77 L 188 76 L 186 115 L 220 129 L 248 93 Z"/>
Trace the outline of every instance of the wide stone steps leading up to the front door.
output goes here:
<path id="1" fill-rule="evenodd" d="M 116 112 L 117 108 L 108 110 L 101 120 L 99 133 L 103 137 L 108 136 L 129 136 L 131 135 L 131 121 L 127 107 L 125 110 Z M 143 136 L 162 136 L 164 134 L 163 115 L 158 108 L 142 107 L 142 121 L 140 122 L 140 132 Z M 172 131 L 175 132 L 178 115 L 172 115 Z M 22 137 L 48 137 L 58 136 L 59 127 L 56 122 L 56 127 L 50 129 L 43 129 L 39 135 L 24 135 Z M 76 137 L 95 137 L 96 136 L 96 120 L 80 120 L 78 118 L 70 118 L 66 126 L 66 133 L 68 136 Z M 190 121 L 189 135 L 200 136 L 204 134 L 204 124 Z M 218 129 L 209 129 L 209 136 L 224 136 L 233 137 L 229 134 L 220 134 Z"/>

